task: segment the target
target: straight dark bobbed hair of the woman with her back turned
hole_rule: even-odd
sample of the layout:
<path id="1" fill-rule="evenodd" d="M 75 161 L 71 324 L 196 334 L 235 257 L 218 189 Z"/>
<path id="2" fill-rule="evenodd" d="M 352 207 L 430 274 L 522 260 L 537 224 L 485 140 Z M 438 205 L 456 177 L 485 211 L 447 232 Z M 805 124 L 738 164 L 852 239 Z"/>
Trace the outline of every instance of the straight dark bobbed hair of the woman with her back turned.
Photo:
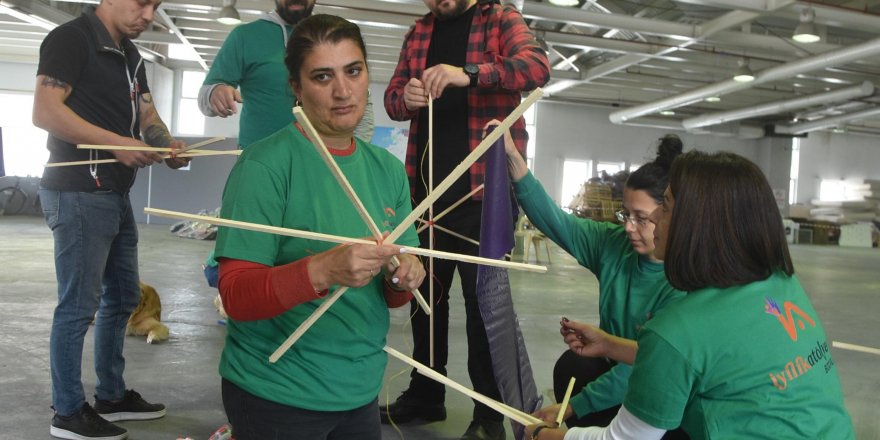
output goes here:
<path id="1" fill-rule="evenodd" d="M 669 171 L 675 199 L 664 257 L 676 289 L 731 287 L 791 276 L 782 216 L 764 173 L 733 153 L 690 151 Z"/>

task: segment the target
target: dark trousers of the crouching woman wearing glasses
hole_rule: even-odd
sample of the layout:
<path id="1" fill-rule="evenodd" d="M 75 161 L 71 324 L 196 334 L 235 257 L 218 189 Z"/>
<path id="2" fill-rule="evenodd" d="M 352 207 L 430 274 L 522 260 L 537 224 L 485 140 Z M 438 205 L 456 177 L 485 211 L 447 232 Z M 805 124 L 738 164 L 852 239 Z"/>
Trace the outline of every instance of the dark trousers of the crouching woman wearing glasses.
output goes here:
<path id="1" fill-rule="evenodd" d="M 611 363 L 605 358 L 578 356 L 573 351 L 566 350 L 553 367 L 553 394 L 556 396 L 556 401 L 562 402 L 562 399 L 565 398 L 565 391 L 572 377 L 575 378 L 572 394 L 577 394 L 588 383 L 610 370 L 611 366 Z M 571 416 L 565 420 L 565 424 L 569 428 L 575 426 L 608 426 L 619 410 L 620 405 L 615 405 L 601 411 L 584 414 L 583 417 Z M 664 440 L 688 440 L 689 438 L 681 428 L 669 431 L 663 436 Z"/>

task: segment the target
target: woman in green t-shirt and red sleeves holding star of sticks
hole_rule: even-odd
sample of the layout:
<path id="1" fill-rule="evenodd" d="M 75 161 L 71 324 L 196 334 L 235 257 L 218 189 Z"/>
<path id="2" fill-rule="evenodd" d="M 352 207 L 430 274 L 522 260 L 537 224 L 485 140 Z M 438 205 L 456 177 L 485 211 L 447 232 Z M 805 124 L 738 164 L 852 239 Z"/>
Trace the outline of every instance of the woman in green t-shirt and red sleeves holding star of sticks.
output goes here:
<path id="1" fill-rule="evenodd" d="M 358 27 L 303 20 L 287 46 L 290 83 L 366 211 L 385 231 L 411 211 L 403 164 L 354 137 L 369 77 Z M 370 236 L 298 124 L 252 144 L 235 164 L 221 217 L 343 237 Z M 398 240 L 418 246 L 410 226 Z M 220 228 L 220 294 L 230 320 L 220 358 L 223 406 L 235 438 L 379 440 L 377 396 L 387 357 L 389 307 L 412 299 L 425 277 L 395 245 L 327 242 Z M 398 256 L 400 266 L 389 261 Z M 321 305 L 348 291 L 277 362 L 269 356 Z"/>

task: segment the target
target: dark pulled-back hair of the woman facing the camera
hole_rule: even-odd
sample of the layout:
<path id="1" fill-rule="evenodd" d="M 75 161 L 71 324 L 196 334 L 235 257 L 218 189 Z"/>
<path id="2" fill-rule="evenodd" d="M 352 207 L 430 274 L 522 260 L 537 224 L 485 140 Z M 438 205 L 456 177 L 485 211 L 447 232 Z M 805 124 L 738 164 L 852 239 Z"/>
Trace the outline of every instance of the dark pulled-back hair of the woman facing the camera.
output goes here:
<path id="1" fill-rule="evenodd" d="M 284 64 L 290 74 L 290 81 L 299 84 L 299 71 L 306 57 L 315 50 L 315 46 L 323 43 L 339 43 L 342 40 L 353 41 L 367 61 L 367 46 L 361 29 L 354 23 L 335 15 L 317 14 L 299 22 L 293 28 L 293 34 L 287 42 L 287 54 Z"/>

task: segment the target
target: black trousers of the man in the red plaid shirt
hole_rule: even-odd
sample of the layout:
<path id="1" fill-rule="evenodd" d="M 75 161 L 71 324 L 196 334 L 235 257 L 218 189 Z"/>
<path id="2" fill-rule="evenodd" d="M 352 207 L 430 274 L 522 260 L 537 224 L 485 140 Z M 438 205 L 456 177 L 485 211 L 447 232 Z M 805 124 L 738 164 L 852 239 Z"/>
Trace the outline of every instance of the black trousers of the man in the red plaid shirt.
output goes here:
<path id="1" fill-rule="evenodd" d="M 435 214 L 442 208 L 435 209 Z M 440 219 L 437 224 L 458 234 L 479 240 L 480 216 L 482 204 L 479 202 L 466 202 L 455 208 L 449 214 Z M 428 230 L 419 235 L 422 247 L 428 247 Z M 468 243 L 461 238 L 448 235 L 435 230 L 434 249 L 455 252 L 459 254 L 477 255 L 479 247 Z M 425 269 L 428 269 L 428 261 L 424 260 Z M 489 354 L 489 340 L 486 336 L 486 327 L 480 316 L 480 307 L 477 303 L 477 266 L 475 264 L 460 263 L 452 260 L 434 259 L 434 367 L 433 369 L 446 375 L 446 363 L 449 358 L 449 290 L 452 287 L 452 277 L 458 269 L 461 278 L 461 290 L 464 295 L 465 329 L 468 339 L 468 374 L 473 384 L 474 391 L 495 400 L 501 400 L 501 393 L 495 383 L 495 375 L 492 371 L 492 358 Z M 419 288 L 425 299 L 428 298 L 430 277 Z M 412 333 L 413 333 L 413 358 L 425 365 L 429 364 L 429 317 L 421 310 L 418 303 L 411 303 L 413 310 Z M 413 370 L 410 374 L 410 392 L 413 396 L 429 402 L 442 403 L 446 397 L 446 389 L 443 384 L 429 379 Z M 501 421 L 503 416 L 482 403 L 474 401 L 474 420 Z"/>

